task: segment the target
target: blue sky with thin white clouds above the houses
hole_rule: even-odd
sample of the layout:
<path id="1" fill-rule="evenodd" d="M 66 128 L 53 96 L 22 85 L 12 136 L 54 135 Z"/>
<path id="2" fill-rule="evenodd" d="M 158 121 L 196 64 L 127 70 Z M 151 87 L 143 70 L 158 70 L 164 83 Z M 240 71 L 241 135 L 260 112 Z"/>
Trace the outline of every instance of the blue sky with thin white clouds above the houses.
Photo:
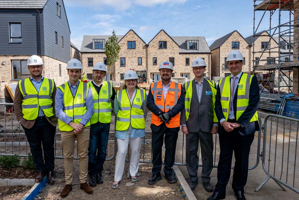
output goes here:
<path id="1" fill-rule="evenodd" d="M 78 48 L 83 35 L 111 35 L 113 30 L 124 35 L 131 28 L 146 43 L 161 29 L 170 36 L 205 36 L 209 46 L 234 30 L 244 37 L 253 34 L 253 0 L 64 0 L 64 4 L 71 41 Z M 256 12 L 256 26 L 262 14 Z M 288 13 L 283 17 L 288 20 Z M 277 24 L 274 13 L 272 26 Z M 268 28 L 266 12 L 258 31 Z"/>

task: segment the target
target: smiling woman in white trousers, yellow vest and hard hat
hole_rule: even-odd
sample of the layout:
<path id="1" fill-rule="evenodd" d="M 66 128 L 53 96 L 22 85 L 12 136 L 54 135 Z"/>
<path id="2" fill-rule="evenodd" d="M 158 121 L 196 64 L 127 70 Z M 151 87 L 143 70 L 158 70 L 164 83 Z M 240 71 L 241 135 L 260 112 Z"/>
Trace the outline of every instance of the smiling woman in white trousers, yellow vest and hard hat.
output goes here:
<path id="1" fill-rule="evenodd" d="M 147 94 L 137 86 L 138 76 L 133 70 L 124 75 L 125 84 L 117 91 L 114 100 L 115 115 L 117 115 L 115 136 L 117 137 L 118 152 L 115 160 L 115 174 L 112 189 L 118 188 L 123 176 L 126 152 L 130 140 L 131 181 L 136 182 L 139 167 L 139 155 L 142 138 L 145 136 L 145 118 L 147 116 Z"/>

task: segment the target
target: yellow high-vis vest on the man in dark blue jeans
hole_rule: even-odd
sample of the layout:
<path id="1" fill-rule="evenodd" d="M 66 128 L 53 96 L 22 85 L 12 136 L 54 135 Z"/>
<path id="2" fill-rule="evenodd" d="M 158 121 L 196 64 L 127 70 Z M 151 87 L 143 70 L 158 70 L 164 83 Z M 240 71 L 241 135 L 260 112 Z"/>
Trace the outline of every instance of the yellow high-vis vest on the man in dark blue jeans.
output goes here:
<path id="1" fill-rule="evenodd" d="M 90 123 L 96 124 L 98 121 L 101 123 L 111 122 L 111 96 L 112 96 L 112 83 L 103 81 L 100 93 L 94 88 L 92 82 L 89 82 L 92 99 L 94 104 L 94 113 L 91 116 Z"/>

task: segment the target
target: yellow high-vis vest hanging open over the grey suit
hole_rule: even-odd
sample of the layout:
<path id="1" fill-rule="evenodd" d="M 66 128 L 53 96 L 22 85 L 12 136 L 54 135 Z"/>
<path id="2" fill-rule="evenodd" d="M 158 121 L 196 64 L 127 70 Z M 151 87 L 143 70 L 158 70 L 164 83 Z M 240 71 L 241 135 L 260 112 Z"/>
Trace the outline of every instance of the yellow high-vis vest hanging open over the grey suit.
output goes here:
<path id="1" fill-rule="evenodd" d="M 215 109 L 214 109 L 215 108 L 215 96 L 216 96 L 216 93 L 217 93 L 216 84 L 215 84 L 215 81 L 210 81 L 210 80 L 207 80 L 207 81 L 209 82 L 209 85 L 211 87 L 212 94 L 213 94 L 212 95 L 212 101 L 213 101 L 213 105 L 212 106 L 213 106 L 213 113 L 214 113 L 213 122 L 216 123 L 216 122 L 218 122 L 217 116 L 215 114 Z M 192 99 L 192 92 L 193 92 L 192 82 L 193 82 L 193 80 L 185 82 L 185 90 L 186 90 L 186 95 L 185 95 L 186 121 L 188 121 L 189 114 L 190 114 L 190 106 L 191 106 L 191 99 Z"/>

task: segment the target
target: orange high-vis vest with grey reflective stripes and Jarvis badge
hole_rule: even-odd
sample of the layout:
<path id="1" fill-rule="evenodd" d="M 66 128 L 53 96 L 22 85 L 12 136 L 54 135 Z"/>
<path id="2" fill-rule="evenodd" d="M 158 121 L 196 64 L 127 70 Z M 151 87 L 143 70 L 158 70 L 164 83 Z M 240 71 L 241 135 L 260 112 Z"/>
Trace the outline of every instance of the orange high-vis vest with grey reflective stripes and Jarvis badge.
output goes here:
<path id="1" fill-rule="evenodd" d="M 164 101 L 164 91 L 162 87 L 161 81 L 155 82 L 151 84 L 151 91 L 154 97 L 154 102 L 156 106 L 163 112 L 167 112 L 173 108 L 178 103 L 178 99 L 181 96 L 181 84 L 171 81 L 169 90 L 166 94 L 166 98 Z M 163 122 L 161 119 L 152 113 L 152 124 L 156 126 L 161 125 Z M 169 124 L 166 123 L 168 128 L 176 128 L 180 126 L 180 114 L 178 113 L 176 116 L 172 117 L 169 121 Z"/>

